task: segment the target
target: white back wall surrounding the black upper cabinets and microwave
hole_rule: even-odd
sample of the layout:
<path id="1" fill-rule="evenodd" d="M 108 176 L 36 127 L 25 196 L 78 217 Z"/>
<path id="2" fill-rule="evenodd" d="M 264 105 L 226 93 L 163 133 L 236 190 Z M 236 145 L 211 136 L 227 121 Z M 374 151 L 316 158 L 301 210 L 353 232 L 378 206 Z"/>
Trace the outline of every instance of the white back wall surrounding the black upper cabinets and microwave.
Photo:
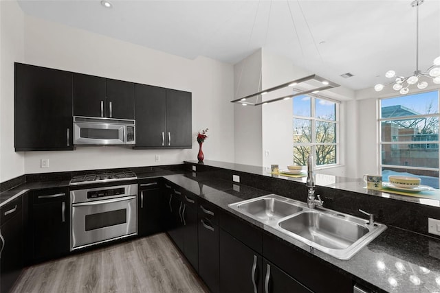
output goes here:
<path id="1" fill-rule="evenodd" d="M 131 150 L 110 146 L 26 152 L 25 173 L 195 160 L 198 151 L 195 135 L 201 128 L 209 128 L 209 137 L 203 144 L 205 159 L 234 161 L 234 106 L 229 103 L 234 94 L 232 65 L 203 57 L 188 60 L 33 16 L 25 16 L 24 32 L 25 63 L 192 92 L 194 132 L 192 150 Z M 13 130 L 12 124 L 9 128 Z M 8 148 L 13 146 L 7 141 L 3 144 L 8 144 Z M 154 161 L 155 154 L 160 156 L 160 161 Z M 41 159 L 49 159 L 50 167 L 41 169 Z"/>

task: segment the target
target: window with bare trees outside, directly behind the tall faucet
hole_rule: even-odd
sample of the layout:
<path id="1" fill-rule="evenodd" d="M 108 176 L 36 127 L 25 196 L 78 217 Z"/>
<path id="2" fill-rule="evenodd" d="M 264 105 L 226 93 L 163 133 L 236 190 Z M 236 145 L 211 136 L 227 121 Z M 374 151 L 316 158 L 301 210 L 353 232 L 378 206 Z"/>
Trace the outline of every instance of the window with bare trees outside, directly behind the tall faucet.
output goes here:
<path id="1" fill-rule="evenodd" d="M 338 163 L 339 104 L 300 95 L 294 97 L 293 107 L 294 163 L 307 165 L 309 154 L 314 154 L 317 166 Z"/>

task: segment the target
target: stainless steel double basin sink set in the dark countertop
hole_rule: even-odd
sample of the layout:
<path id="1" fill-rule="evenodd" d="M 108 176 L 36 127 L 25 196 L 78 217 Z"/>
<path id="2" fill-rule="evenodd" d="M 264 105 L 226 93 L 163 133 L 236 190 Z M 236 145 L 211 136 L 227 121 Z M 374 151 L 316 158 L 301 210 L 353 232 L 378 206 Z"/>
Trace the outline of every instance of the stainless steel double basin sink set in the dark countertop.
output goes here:
<path id="1" fill-rule="evenodd" d="M 337 259 L 350 259 L 385 229 L 384 224 L 271 194 L 229 207 Z"/>

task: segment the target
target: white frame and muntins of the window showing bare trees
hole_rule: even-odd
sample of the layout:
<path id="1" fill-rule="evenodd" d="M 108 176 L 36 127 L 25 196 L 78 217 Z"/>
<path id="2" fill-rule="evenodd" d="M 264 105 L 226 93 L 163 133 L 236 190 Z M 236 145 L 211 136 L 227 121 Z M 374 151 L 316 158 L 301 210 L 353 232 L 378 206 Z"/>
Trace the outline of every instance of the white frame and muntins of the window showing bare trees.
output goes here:
<path id="1" fill-rule="evenodd" d="M 340 160 L 341 160 L 341 154 L 340 154 L 340 106 L 341 106 L 341 102 L 337 101 L 335 99 L 331 99 L 329 97 L 322 97 L 320 95 L 311 95 L 311 94 L 307 94 L 307 95 L 301 95 L 302 96 L 307 96 L 310 97 L 310 116 L 299 116 L 299 115 L 295 115 L 294 111 L 292 113 L 292 124 L 294 123 L 294 119 L 303 119 L 303 120 L 309 120 L 311 121 L 311 143 L 295 143 L 293 142 L 292 144 L 292 156 L 294 148 L 296 145 L 300 145 L 300 146 L 305 146 L 305 147 L 310 147 L 311 148 L 311 154 L 314 155 L 314 167 L 316 167 L 315 169 L 326 169 L 326 168 L 330 168 L 330 167 L 339 167 L 340 166 Z M 335 104 L 335 119 L 334 120 L 326 120 L 326 119 L 320 119 L 318 117 L 316 117 L 316 99 L 323 99 L 326 100 L 328 102 L 332 102 Z M 292 109 L 294 109 L 294 99 L 292 99 Z M 329 123 L 333 123 L 335 124 L 335 131 L 336 131 L 336 139 L 334 143 L 317 143 L 316 142 L 316 123 L 320 121 L 320 122 L 329 122 Z M 293 134 L 293 133 L 292 133 Z M 335 163 L 331 163 L 331 164 L 325 164 L 325 165 L 316 165 L 316 146 L 317 145 L 335 145 L 335 152 L 336 152 L 336 162 Z"/>

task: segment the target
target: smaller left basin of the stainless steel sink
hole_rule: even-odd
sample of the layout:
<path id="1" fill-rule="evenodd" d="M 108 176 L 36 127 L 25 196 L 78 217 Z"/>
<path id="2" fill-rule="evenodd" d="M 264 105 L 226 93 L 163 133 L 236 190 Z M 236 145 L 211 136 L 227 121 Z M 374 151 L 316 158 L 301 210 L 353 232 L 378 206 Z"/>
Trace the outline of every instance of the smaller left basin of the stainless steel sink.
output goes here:
<path id="1" fill-rule="evenodd" d="M 237 209 L 243 213 L 252 215 L 253 218 L 261 219 L 263 221 L 278 220 L 303 211 L 303 208 L 288 202 L 281 201 L 274 197 L 260 198 L 250 202 L 238 204 Z"/>

